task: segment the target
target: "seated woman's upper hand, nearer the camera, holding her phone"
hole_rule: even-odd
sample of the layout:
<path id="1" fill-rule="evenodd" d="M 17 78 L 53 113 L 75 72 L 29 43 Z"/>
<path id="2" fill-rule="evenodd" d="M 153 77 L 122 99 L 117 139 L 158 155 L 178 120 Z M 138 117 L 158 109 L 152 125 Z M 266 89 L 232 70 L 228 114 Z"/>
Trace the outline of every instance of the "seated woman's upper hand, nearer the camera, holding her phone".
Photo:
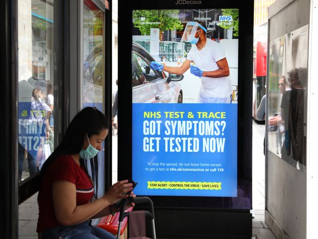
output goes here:
<path id="1" fill-rule="evenodd" d="M 119 181 L 105 193 L 103 198 L 109 205 L 112 205 L 122 198 L 128 198 L 126 193 L 133 189 L 131 186 L 132 184 L 128 184 L 128 180 Z"/>

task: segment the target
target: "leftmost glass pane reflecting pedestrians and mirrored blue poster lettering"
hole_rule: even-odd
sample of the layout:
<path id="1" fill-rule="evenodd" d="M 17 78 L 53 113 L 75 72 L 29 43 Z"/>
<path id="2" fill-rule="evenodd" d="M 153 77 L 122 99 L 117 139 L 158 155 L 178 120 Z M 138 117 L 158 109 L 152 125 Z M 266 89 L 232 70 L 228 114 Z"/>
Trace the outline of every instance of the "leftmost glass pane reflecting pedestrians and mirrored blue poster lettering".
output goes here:
<path id="1" fill-rule="evenodd" d="M 54 149 L 53 1 L 18 1 L 19 181 Z"/>

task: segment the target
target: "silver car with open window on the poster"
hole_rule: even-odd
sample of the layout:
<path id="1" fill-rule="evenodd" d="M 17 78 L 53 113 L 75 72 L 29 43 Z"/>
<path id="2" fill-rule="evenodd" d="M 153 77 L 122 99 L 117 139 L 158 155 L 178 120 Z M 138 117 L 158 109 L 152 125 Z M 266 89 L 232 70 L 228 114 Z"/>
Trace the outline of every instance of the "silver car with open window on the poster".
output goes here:
<path id="1" fill-rule="evenodd" d="M 150 69 L 155 59 L 145 48 L 132 45 L 132 102 L 133 103 L 182 103 L 181 81 L 183 75 L 172 75 Z"/>

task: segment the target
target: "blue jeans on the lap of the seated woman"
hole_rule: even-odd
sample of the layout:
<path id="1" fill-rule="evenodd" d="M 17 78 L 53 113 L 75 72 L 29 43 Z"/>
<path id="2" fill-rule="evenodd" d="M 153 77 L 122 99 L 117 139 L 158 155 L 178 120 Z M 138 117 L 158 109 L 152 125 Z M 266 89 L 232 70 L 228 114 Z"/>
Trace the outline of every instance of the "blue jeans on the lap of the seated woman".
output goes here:
<path id="1" fill-rule="evenodd" d="M 114 239 L 116 238 L 110 232 L 105 231 L 97 226 L 92 226 L 89 221 L 82 222 L 74 226 L 56 226 L 42 233 L 42 239 L 85 239 L 85 238 L 102 238 Z"/>

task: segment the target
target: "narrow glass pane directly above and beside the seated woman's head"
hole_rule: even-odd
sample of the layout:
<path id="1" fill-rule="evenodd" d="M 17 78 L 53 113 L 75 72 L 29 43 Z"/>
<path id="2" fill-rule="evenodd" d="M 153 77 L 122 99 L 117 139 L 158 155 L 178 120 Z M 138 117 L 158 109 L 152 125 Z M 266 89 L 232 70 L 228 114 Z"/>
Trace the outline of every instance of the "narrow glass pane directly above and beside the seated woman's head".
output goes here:
<path id="1" fill-rule="evenodd" d="M 103 112 L 104 102 L 104 13 L 91 0 L 83 6 L 83 107 Z M 102 146 L 104 148 L 104 145 Z M 97 197 L 104 193 L 104 152 L 98 152 Z M 88 165 L 88 167 L 90 167 Z"/>

